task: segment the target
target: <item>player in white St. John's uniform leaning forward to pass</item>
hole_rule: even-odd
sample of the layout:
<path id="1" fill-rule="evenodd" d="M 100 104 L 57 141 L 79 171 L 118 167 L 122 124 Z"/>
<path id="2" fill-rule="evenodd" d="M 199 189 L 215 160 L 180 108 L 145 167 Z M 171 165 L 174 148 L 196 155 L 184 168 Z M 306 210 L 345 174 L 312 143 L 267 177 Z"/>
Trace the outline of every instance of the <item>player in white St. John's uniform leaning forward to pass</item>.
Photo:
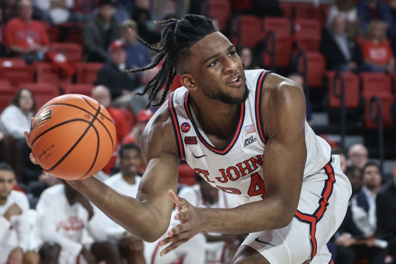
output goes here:
<path id="1" fill-rule="evenodd" d="M 263 70 L 244 71 L 235 47 L 206 17 L 159 22 L 162 69 L 147 85 L 147 107 L 176 74 L 181 87 L 154 114 L 141 138 L 147 169 L 136 199 L 94 177 L 69 181 L 130 233 L 156 241 L 173 204 L 181 224 L 165 254 L 197 233 L 250 233 L 234 264 L 331 263 L 326 243 L 340 226 L 351 187 L 339 157 L 305 121 L 301 87 Z M 34 157 L 32 157 L 34 161 Z M 196 208 L 175 195 L 179 161 L 209 184 L 237 195 L 233 209 Z M 171 199 L 168 198 L 171 196 Z"/>

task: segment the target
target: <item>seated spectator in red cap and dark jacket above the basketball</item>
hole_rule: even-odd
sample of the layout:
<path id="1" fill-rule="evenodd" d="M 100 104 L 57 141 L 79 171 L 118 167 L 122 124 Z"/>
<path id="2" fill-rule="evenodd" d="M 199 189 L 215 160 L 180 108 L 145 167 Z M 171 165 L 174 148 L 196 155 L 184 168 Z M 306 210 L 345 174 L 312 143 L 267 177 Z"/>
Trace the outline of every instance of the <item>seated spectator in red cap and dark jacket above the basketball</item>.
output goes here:
<path id="1" fill-rule="evenodd" d="M 140 85 L 140 78 L 135 74 L 125 74 L 129 69 L 126 63 L 125 44 L 121 40 L 114 40 L 109 48 L 110 59 L 99 70 L 95 85 L 104 85 L 109 88 L 112 99 L 130 94 Z"/>

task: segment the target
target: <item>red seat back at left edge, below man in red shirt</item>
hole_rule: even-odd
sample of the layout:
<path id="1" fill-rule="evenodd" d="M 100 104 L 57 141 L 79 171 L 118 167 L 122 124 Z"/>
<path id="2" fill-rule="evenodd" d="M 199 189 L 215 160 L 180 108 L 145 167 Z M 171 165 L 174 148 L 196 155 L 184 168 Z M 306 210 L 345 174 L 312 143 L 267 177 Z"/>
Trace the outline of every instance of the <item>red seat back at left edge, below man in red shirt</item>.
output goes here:
<path id="1" fill-rule="evenodd" d="M 19 62 L 20 63 L 20 62 Z M 6 65 L 10 65 L 5 63 Z M 34 66 L 14 66 L 3 67 L 4 63 L 0 65 L 0 78 L 10 81 L 11 86 L 17 87 L 21 82 L 33 82 L 34 81 Z"/>

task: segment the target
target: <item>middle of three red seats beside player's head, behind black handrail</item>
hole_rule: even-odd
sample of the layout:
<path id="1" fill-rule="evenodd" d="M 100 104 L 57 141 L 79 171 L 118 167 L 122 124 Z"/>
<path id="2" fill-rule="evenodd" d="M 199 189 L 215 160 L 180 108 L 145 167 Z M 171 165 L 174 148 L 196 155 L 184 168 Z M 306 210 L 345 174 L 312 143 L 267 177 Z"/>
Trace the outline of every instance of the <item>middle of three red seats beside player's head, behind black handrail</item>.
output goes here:
<path id="1" fill-rule="evenodd" d="M 274 31 L 276 36 L 276 67 L 289 67 L 293 48 L 290 20 L 283 17 L 266 17 L 263 19 L 263 25 L 264 34 Z M 270 65 L 270 56 L 265 52 L 263 53 L 263 65 Z"/>

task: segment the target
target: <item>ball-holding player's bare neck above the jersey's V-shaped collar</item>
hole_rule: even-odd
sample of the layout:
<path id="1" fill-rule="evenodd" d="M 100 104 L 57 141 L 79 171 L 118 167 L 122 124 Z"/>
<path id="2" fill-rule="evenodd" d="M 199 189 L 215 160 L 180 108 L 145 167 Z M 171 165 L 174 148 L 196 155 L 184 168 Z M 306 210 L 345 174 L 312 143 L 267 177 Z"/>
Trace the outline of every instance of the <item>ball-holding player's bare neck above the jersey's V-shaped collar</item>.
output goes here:
<path id="1" fill-rule="evenodd" d="M 196 100 L 191 97 L 190 106 L 204 132 L 234 132 L 240 105 L 230 105 L 208 98 Z"/>

